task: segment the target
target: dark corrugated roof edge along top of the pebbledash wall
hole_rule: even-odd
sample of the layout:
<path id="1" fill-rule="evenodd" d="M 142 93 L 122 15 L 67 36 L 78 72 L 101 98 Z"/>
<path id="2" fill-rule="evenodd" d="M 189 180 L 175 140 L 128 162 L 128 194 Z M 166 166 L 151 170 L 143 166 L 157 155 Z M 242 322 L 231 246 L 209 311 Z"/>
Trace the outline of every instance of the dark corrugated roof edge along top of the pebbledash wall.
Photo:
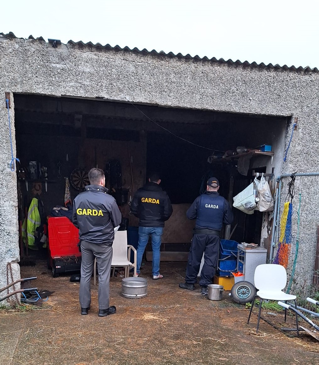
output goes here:
<path id="1" fill-rule="evenodd" d="M 16 37 L 12 32 L 9 32 L 7 34 L 4 33 L 0 33 L 0 36 L 5 37 L 5 38 L 18 38 Z M 25 38 L 18 38 L 18 39 L 25 39 Z M 38 37 L 38 38 L 34 38 L 32 35 L 29 36 L 29 38 L 27 39 L 35 39 L 37 41 L 44 41 L 45 39 L 43 37 Z M 218 64 L 228 64 L 228 65 L 238 65 L 238 66 L 245 66 L 245 67 L 253 67 L 253 68 L 262 68 L 262 69 L 281 69 L 281 70 L 289 70 L 289 71 L 294 71 L 294 72 L 315 72 L 318 73 L 319 70 L 318 68 L 310 68 L 309 66 L 307 67 L 295 67 L 295 66 L 290 66 L 288 67 L 287 65 L 284 66 L 280 66 L 280 65 L 273 65 L 273 64 L 264 64 L 263 62 L 261 64 L 258 64 L 257 62 L 252 62 L 249 63 L 248 61 L 244 61 L 241 62 L 239 61 L 239 59 L 237 59 L 237 61 L 233 61 L 232 59 L 228 59 L 227 61 L 224 58 L 208 58 L 208 57 L 199 57 L 198 55 L 192 57 L 190 54 L 187 55 L 183 55 L 181 53 L 177 53 L 174 54 L 173 52 L 169 52 L 169 53 L 165 53 L 164 51 L 160 51 L 157 52 L 154 49 L 152 51 L 148 51 L 147 49 L 142 49 L 139 50 L 138 48 L 129 48 L 129 47 L 124 47 L 121 48 L 120 46 L 115 46 L 112 47 L 111 45 L 107 44 L 105 46 L 101 45 L 101 43 L 95 43 L 93 44 L 92 42 L 87 42 L 84 43 L 82 41 L 79 42 L 74 42 L 72 40 L 68 41 L 67 44 L 72 44 L 74 46 L 80 46 L 80 47 L 93 47 L 93 48 L 98 48 L 98 49 L 105 49 L 105 50 L 112 50 L 112 51 L 124 51 L 124 52 L 132 52 L 132 53 L 138 53 L 138 54 L 142 54 L 142 55 L 154 55 L 154 56 L 165 56 L 165 57 L 170 57 L 170 58 L 183 58 L 183 59 L 193 59 L 195 61 L 207 61 L 207 62 L 212 62 L 212 63 L 218 63 Z"/>

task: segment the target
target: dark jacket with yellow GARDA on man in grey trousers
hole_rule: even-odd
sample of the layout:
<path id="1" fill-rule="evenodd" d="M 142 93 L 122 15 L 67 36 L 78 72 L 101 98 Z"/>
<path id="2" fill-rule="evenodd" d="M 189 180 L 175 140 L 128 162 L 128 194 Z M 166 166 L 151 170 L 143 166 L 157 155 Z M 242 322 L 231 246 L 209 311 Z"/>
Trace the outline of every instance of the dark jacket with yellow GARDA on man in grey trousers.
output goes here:
<path id="1" fill-rule="evenodd" d="M 114 228 L 122 215 L 115 199 L 100 185 L 88 185 L 73 202 L 73 224 L 79 228 L 80 241 L 112 246 Z"/>

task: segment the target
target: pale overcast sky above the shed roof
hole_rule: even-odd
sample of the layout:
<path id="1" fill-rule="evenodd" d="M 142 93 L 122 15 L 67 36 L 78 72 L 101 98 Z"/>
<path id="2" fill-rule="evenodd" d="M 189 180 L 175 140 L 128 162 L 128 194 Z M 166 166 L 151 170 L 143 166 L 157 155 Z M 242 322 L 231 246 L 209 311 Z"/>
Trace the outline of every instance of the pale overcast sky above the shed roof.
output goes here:
<path id="1" fill-rule="evenodd" d="M 3 1 L 0 32 L 319 68 L 319 1 Z"/>

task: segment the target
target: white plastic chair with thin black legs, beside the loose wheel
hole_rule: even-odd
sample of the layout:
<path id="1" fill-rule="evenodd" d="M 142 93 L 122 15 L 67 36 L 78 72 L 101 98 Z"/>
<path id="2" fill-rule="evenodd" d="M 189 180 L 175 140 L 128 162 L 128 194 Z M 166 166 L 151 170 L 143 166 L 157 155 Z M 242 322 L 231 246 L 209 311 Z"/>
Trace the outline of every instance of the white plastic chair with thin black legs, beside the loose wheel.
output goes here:
<path id="1" fill-rule="evenodd" d="M 287 300 L 294 300 L 294 305 L 297 307 L 296 295 L 287 294 L 282 291 L 287 284 L 287 273 L 284 266 L 276 264 L 262 264 L 258 265 L 255 270 L 254 275 L 255 287 L 258 289 L 254 300 L 252 301 L 249 317 L 247 323 L 252 313 L 252 308 L 254 308 L 254 303 L 256 297 L 260 298 L 258 322 L 256 333 L 258 333 L 260 311 L 262 309 L 262 301 L 264 300 L 281 300 L 286 303 Z M 285 322 L 287 318 L 287 310 L 285 308 Z M 296 314 L 296 330 L 297 335 L 299 334 L 298 318 Z"/>

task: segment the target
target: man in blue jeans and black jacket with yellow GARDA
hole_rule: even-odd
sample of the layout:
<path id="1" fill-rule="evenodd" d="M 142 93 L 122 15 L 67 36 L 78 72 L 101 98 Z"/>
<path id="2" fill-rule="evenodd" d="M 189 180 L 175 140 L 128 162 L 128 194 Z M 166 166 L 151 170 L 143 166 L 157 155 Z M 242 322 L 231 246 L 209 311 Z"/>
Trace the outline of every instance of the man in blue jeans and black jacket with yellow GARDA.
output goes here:
<path id="1" fill-rule="evenodd" d="M 151 235 L 153 280 L 163 277 L 159 273 L 161 236 L 163 234 L 164 222 L 169 219 L 173 212 L 169 197 L 159 186 L 160 183 L 161 178 L 158 173 L 150 174 L 149 181 L 143 188 L 136 191 L 131 205 L 132 214 L 139 218 L 136 272 L 139 275 L 142 257 Z"/>

